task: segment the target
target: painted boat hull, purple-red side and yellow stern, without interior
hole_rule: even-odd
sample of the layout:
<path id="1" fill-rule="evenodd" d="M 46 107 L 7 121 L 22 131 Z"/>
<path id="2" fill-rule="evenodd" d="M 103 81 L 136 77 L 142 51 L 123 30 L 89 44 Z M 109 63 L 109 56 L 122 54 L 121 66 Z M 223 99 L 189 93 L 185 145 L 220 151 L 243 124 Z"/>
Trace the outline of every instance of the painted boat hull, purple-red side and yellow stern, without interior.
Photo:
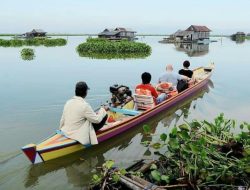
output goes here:
<path id="1" fill-rule="evenodd" d="M 206 86 L 209 82 L 211 74 L 209 74 L 206 78 L 204 78 L 199 83 L 193 85 L 187 90 L 179 93 L 177 96 L 174 96 L 161 104 L 158 104 L 154 108 L 142 112 L 131 119 L 128 119 L 124 122 L 121 122 L 113 127 L 101 130 L 97 132 L 98 142 L 103 142 L 107 139 L 110 139 L 114 136 L 117 136 L 124 131 L 127 131 L 142 122 L 150 119 L 151 117 L 157 115 L 158 113 L 171 108 L 178 102 L 184 101 L 188 97 L 192 96 L 195 92 Z M 28 159 L 33 163 L 46 162 L 55 158 L 59 158 L 62 156 L 66 156 L 73 152 L 77 152 L 83 150 L 85 148 L 90 147 L 90 144 L 82 145 L 73 139 L 66 138 L 60 132 L 52 135 L 51 137 L 45 139 L 40 144 L 29 144 L 22 148 L 25 155 Z"/>

